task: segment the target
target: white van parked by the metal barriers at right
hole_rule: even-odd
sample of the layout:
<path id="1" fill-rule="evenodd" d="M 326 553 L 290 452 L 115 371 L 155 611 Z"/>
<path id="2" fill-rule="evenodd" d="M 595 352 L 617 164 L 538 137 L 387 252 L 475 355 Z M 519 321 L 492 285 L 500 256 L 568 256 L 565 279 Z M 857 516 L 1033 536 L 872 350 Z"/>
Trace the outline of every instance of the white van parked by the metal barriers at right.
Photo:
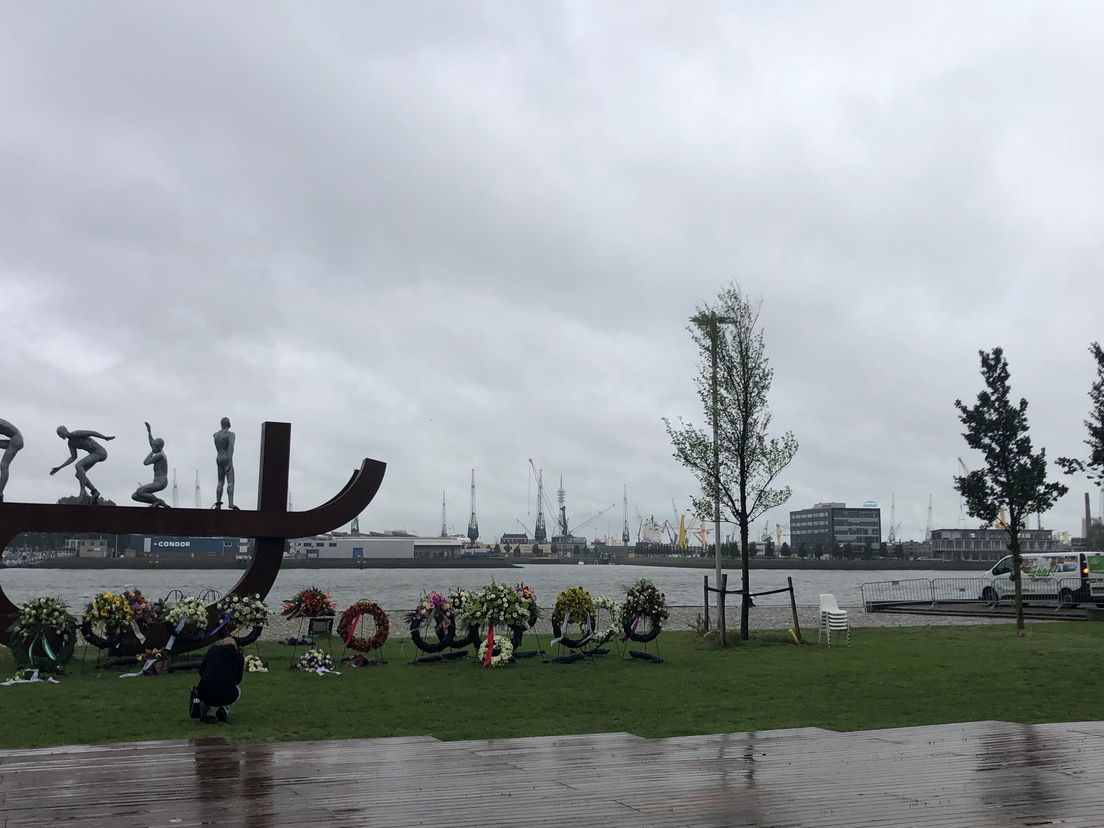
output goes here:
<path id="1" fill-rule="evenodd" d="M 1104 553 L 1032 552 L 1020 555 L 1023 594 L 1032 598 L 1057 598 L 1062 604 L 1104 601 Z M 1001 558 L 980 575 L 978 597 L 987 603 L 1016 594 L 1012 556 Z"/>

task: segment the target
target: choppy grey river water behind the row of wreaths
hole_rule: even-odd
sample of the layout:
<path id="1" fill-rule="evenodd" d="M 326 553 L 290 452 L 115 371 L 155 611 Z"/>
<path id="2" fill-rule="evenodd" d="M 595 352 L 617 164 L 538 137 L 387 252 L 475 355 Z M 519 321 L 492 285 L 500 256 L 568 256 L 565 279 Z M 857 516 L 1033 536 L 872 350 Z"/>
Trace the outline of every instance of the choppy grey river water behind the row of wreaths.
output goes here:
<path id="1" fill-rule="evenodd" d="M 739 570 L 725 570 L 730 587 L 739 587 Z M 594 595 L 620 599 L 633 581 L 647 577 L 667 594 L 670 606 L 700 607 L 702 576 L 712 570 L 673 566 L 580 566 L 577 564 L 531 564 L 517 569 L 402 569 L 402 570 L 283 570 L 269 593 L 270 609 L 279 609 L 279 599 L 294 595 L 304 586 L 328 591 L 338 608 L 355 601 L 374 601 L 385 609 L 413 608 L 424 592 L 440 592 L 452 587 L 479 588 L 491 578 L 499 583 L 524 582 L 537 592 L 541 606 L 551 606 L 555 596 L 569 586 L 584 586 Z M 974 573 L 948 573 L 927 570 L 752 570 L 752 592 L 784 588 L 786 577 L 794 578 L 799 606 L 818 606 L 820 593 L 834 593 L 841 607 L 861 607 L 860 586 L 873 581 L 937 578 L 948 575 L 972 576 Z M 184 595 L 199 595 L 212 588 L 229 591 L 242 576 L 241 570 L 50 570 L 7 569 L 2 572 L 3 588 L 17 604 L 50 595 L 65 601 L 74 611 L 82 611 L 92 596 L 105 590 L 137 587 L 149 597 L 163 596 L 170 590 Z M 712 578 L 710 578 L 712 580 Z M 733 599 L 737 601 L 737 599 Z M 712 601 L 710 603 L 713 603 Z M 786 606 L 785 593 L 756 598 L 761 606 Z"/>

